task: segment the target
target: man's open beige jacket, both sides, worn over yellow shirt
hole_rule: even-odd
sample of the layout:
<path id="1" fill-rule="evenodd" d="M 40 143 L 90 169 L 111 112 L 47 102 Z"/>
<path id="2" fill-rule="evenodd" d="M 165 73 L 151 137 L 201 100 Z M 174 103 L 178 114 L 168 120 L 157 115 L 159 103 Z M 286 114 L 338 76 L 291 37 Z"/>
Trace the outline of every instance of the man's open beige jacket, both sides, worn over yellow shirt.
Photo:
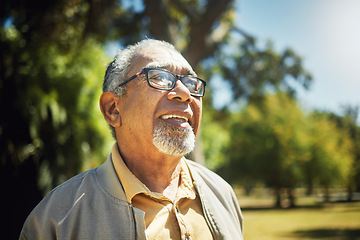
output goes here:
<path id="1" fill-rule="evenodd" d="M 110 158 L 47 194 L 26 219 L 20 239 L 146 239 L 144 212 L 127 202 Z M 242 214 L 230 185 L 187 162 L 214 239 L 243 239 Z"/>

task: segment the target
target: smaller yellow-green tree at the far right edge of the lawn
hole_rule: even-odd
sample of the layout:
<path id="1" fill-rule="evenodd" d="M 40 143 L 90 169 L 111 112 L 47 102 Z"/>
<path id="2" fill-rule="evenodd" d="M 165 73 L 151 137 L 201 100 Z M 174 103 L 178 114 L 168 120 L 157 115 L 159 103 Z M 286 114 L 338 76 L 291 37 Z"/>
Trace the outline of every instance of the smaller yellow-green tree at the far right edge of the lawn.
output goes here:
<path id="1" fill-rule="evenodd" d="M 307 128 L 308 157 L 303 161 L 303 175 L 308 193 L 314 186 L 325 188 L 346 187 L 353 162 L 353 141 L 343 128 L 329 119 L 328 113 L 314 111 Z"/>

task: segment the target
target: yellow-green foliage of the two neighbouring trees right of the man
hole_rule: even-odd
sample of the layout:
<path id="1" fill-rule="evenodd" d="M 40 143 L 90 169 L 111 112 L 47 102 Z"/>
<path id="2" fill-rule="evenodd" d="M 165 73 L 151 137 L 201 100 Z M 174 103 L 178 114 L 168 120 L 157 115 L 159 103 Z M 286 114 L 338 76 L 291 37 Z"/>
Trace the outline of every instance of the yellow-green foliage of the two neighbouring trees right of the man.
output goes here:
<path id="1" fill-rule="evenodd" d="M 305 114 L 285 94 L 267 95 L 232 116 L 230 161 L 222 171 L 232 181 L 262 182 L 275 189 L 345 186 L 352 144 L 327 118 Z"/>

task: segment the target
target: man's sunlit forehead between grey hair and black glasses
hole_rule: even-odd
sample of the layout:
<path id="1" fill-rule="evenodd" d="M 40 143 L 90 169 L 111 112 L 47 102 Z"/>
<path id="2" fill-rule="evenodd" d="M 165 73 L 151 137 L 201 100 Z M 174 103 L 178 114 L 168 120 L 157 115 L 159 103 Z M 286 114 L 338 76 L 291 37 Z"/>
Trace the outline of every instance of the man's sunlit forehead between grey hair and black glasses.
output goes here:
<path id="1" fill-rule="evenodd" d="M 138 51 L 132 59 L 131 70 L 138 72 L 144 67 L 164 68 L 177 74 L 196 75 L 180 53 L 165 47 L 149 47 Z"/>

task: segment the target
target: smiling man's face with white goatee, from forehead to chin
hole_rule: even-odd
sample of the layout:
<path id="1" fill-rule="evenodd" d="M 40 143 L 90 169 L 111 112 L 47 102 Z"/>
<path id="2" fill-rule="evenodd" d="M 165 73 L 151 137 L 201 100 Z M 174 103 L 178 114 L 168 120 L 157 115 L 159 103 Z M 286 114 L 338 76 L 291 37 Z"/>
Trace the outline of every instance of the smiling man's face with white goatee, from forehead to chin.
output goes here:
<path id="1" fill-rule="evenodd" d="M 164 68 L 179 75 L 193 74 L 180 54 L 163 47 L 139 51 L 127 77 L 144 67 Z M 121 132 L 139 149 L 156 148 L 177 156 L 193 149 L 200 127 L 202 100 L 191 96 L 179 80 L 173 90 L 162 91 L 149 87 L 142 74 L 127 84 L 127 95 L 120 105 Z"/>

